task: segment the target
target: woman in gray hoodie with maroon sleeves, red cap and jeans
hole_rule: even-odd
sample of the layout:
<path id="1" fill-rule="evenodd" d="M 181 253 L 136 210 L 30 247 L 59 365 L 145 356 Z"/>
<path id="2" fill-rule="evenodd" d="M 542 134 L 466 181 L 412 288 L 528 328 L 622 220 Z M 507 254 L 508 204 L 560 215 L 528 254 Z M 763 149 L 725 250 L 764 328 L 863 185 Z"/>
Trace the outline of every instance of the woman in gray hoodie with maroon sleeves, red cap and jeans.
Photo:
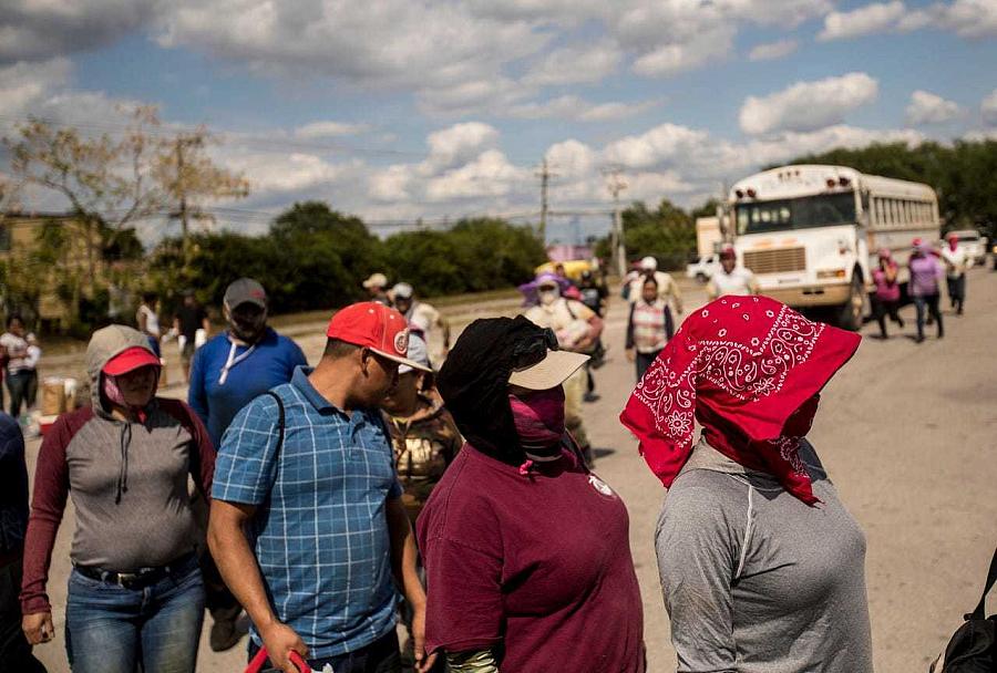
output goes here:
<path id="1" fill-rule="evenodd" d="M 215 451 L 201 420 L 156 397 L 160 359 L 137 330 L 110 325 L 86 348 L 92 406 L 42 442 L 24 546 L 23 630 L 52 639 L 45 591 L 66 497 L 76 529 L 65 608 L 73 673 L 187 673 L 197 661 L 204 586 L 187 480 L 210 493 Z"/>

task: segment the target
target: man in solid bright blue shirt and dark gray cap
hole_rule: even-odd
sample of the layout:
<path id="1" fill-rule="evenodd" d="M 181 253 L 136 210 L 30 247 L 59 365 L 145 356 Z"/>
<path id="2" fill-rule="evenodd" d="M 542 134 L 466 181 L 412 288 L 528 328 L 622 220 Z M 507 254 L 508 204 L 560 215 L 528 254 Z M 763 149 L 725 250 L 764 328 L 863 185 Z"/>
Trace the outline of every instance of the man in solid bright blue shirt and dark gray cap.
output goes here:
<path id="1" fill-rule="evenodd" d="M 267 293 L 251 278 L 233 281 L 225 290 L 223 312 L 228 329 L 194 353 L 187 403 L 201 417 L 215 446 L 239 411 L 271 387 L 288 383 L 308 362 L 294 341 L 267 327 Z M 207 512 L 204 512 L 205 515 Z M 206 524 L 207 517 L 202 517 Z M 223 652 L 245 635 L 238 628 L 243 608 L 210 555 L 202 556 L 207 609 L 214 624 L 210 648 Z"/>

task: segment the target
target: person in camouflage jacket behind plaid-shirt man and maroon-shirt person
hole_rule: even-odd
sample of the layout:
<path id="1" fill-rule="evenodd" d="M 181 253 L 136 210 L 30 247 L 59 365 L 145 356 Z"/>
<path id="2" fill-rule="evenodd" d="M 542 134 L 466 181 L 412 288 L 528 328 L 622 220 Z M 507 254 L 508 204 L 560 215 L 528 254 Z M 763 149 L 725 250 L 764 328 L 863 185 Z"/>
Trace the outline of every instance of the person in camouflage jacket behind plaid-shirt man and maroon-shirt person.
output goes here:
<path id="1" fill-rule="evenodd" d="M 381 404 L 381 408 L 384 412 L 388 431 L 391 433 L 394 470 L 404 489 L 402 503 L 414 528 L 415 519 L 422 514 L 425 501 L 440 483 L 443 473 L 456 457 L 463 439 L 450 412 L 443 406 L 443 398 L 433 386 L 428 346 L 415 332 L 409 335 L 408 356 L 425 369 L 399 365 L 398 384 Z M 420 577 L 425 581 L 421 560 L 419 570 Z M 414 664 L 413 617 L 409 604 L 402 603 L 402 622 L 409 632 L 408 642 L 402 648 L 402 664 L 408 667 Z M 438 660 L 433 671 L 443 670 L 443 661 Z"/>

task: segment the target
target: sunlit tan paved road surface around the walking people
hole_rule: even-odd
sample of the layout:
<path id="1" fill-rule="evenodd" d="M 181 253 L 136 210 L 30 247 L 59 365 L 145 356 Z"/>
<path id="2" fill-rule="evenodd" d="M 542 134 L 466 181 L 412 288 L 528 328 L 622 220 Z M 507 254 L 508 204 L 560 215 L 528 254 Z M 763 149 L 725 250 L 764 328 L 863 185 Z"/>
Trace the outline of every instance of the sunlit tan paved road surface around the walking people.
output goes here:
<path id="1" fill-rule="evenodd" d="M 918 345 L 909 339 L 913 307 L 902 310 L 907 327 L 902 332 L 893 328 L 893 339 L 864 339 L 825 390 L 810 434 L 867 536 L 866 579 L 880 673 L 927 671 L 979 599 L 997 545 L 997 273 L 972 271 L 968 296 L 966 315 L 946 312 L 942 341 L 929 338 Z M 700 290 L 686 297 L 689 308 L 703 302 Z M 634 384 L 633 365 L 623 355 L 625 318 L 625 307 L 616 301 L 607 318 L 609 361 L 596 374 L 602 398 L 586 406 L 586 424 L 597 447 L 597 472 L 629 509 L 649 670 L 664 673 L 676 666 L 652 542 L 665 490 L 617 422 Z M 863 333 L 875 333 L 873 328 Z M 312 362 L 322 341 L 318 329 L 299 339 Z M 183 393 L 182 386 L 168 391 Z M 32 473 L 38 447 L 38 441 L 29 442 Z M 49 582 L 58 638 L 35 649 L 52 673 L 69 671 L 62 627 L 72 529 L 70 505 Z M 198 670 L 241 671 L 244 649 L 212 653 L 207 627 Z"/>

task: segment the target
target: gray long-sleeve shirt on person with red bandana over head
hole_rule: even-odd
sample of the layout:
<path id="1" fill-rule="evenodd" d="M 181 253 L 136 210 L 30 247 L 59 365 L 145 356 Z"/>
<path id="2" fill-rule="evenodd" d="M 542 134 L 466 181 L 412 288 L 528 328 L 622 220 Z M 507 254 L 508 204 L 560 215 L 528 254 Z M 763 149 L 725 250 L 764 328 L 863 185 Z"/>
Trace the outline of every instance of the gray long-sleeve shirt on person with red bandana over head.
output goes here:
<path id="1" fill-rule="evenodd" d="M 705 439 L 669 489 L 656 548 L 680 672 L 872 672 L 865 536 L 800 456 L 816 507 Z"/>

